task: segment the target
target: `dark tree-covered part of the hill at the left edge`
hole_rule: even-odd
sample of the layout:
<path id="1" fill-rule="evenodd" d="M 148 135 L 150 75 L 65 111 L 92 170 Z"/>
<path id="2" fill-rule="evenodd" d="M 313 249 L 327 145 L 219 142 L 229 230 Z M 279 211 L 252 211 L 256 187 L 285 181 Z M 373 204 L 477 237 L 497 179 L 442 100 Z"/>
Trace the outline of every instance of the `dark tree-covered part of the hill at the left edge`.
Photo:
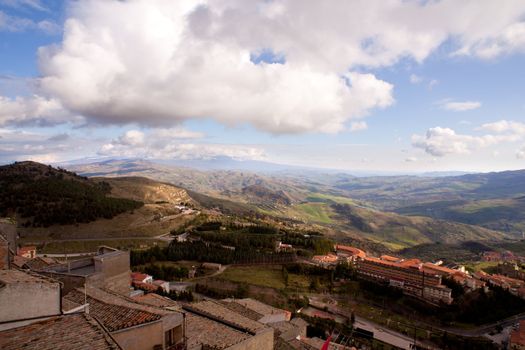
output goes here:
<path id="1" fill-rule="evenodd" d="M 34 162 L 0 167 L 0 216 L 17 216 L 23 226 L 48 227 L 112 218 L 143 203 L 112 198 L 107 182 Z"/>

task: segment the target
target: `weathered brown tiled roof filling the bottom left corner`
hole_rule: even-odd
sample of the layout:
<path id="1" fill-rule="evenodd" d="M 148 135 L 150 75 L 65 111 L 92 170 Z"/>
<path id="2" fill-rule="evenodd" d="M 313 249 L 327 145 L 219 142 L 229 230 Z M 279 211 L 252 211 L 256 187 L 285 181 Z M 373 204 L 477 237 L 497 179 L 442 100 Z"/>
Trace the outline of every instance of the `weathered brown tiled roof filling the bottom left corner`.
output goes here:
<path id="1" fill-rule="evenodd" d="M 53 317 L 0 332 L 3 350 L 117 350 L 117 343 L 86 314 Z"/>

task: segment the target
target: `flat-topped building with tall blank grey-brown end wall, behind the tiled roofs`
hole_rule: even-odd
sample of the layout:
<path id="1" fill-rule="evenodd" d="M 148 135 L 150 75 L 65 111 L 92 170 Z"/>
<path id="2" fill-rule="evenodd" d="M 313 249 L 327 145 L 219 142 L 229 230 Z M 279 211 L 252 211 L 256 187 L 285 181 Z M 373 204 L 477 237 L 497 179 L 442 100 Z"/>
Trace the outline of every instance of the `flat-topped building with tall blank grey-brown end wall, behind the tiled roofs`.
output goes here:
<path id="1" fill-rule="evenodd" d="M 64 293 L 84 285 L 129 294 L 129 252 L 100 247 L 96 255 L 52 265 L 38 273 L 60 280 Z"/>

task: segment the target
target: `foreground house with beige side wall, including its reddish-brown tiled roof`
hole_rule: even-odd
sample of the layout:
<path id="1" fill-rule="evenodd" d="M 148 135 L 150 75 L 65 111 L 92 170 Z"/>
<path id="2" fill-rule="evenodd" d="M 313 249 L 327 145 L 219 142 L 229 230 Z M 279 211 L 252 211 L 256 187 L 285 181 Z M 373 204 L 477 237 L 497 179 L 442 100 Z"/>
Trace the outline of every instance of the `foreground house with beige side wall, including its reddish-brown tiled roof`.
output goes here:
<path id="1" fill-rule="evenodd" d="M 70 291 L 63 305 L 65 311 L 89 310 L 124 350 L 171 350 L 184 343 L 180 312 L 93 287 Z"/>

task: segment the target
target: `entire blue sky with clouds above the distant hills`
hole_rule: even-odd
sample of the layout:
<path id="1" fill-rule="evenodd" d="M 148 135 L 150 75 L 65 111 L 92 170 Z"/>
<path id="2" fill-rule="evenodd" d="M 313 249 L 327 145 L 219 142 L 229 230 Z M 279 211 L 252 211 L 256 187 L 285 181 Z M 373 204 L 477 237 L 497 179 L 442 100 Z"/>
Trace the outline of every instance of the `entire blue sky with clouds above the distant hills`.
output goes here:
<path id="1" fill-rule="evenodd" d="M 525 168 L 522 0 L 0 0 L 0 163 Z"/>

